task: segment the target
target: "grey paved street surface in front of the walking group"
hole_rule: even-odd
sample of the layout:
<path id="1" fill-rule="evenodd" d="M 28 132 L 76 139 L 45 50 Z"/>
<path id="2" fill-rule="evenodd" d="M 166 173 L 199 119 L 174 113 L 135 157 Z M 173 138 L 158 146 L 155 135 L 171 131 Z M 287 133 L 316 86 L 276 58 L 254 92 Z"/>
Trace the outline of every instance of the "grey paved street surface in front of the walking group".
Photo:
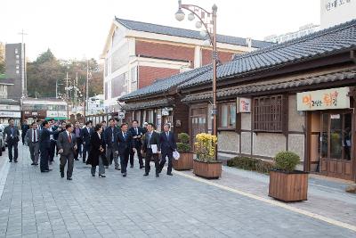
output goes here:
<path id="1" fill-rule="evenodd" d="M 178 173 L 144 177 L 137 163 L 127 177 L 109 168 L 99 178 L 76 161 L 74 180 L 67 181 L 58 164 L 40 173 L 22 148 L 0 201 L 0 237 L 356 237 L 349 229 Z"/>

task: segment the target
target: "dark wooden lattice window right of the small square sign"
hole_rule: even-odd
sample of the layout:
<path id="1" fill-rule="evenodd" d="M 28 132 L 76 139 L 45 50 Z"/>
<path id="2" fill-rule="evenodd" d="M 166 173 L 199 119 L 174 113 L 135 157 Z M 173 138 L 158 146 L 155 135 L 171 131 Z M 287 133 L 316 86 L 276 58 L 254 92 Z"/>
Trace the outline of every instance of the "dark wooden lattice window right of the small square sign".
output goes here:
<path id="1" fill-rule="evenodd" d="M 272 95 L 254 99 L 254 130 L 283 132 L 287 108 L 284 109 L 283 96 Z"/>

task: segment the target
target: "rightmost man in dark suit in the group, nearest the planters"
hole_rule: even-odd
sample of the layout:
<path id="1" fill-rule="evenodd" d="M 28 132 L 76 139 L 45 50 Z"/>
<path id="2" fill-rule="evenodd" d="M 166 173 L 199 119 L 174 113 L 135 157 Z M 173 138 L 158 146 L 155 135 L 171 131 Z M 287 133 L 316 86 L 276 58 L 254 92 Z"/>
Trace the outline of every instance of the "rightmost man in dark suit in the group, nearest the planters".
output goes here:
<path id="1" fill-rule="evenodd" d="M 167 175 L 173 176 L 172 160 L 173 160 L 173 152 L 177 149 L 177 144 L 175 143 L 174 133 L 169 131 L 170 128 L 171 125 L 165 124 L 164 131 L 160 135 L 162 159 L 159 164 L 159 173 L 162 172 L 162 168 L 166 164 L 166 157 L 168 157 Z"/>

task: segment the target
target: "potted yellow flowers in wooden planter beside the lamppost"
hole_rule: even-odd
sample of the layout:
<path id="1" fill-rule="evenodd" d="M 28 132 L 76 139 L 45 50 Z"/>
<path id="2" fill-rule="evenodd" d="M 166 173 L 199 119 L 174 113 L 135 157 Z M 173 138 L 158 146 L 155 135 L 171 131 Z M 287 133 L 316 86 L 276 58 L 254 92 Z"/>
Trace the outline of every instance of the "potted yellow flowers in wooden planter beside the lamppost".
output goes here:
<path id="1" fill-rule="evenodd" d="M 193 160 L 193 173 L 205 178 L 222 176 L 222 162 L 214 159 L 217 137 L 200 133 L 196 135 L 195 152 L 197 159 Z"/>

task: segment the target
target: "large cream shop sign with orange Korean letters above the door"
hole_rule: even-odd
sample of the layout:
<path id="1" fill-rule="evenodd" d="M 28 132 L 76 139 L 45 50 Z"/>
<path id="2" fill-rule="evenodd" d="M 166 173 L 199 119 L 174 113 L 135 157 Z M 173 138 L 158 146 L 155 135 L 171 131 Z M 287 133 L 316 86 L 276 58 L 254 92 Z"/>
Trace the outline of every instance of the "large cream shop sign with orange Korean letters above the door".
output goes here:
<path id="1" fill-rule="evenodd" d="M 349 87 L 338 87 L 296 94 L 298 111 L 350 108 Z"/>

